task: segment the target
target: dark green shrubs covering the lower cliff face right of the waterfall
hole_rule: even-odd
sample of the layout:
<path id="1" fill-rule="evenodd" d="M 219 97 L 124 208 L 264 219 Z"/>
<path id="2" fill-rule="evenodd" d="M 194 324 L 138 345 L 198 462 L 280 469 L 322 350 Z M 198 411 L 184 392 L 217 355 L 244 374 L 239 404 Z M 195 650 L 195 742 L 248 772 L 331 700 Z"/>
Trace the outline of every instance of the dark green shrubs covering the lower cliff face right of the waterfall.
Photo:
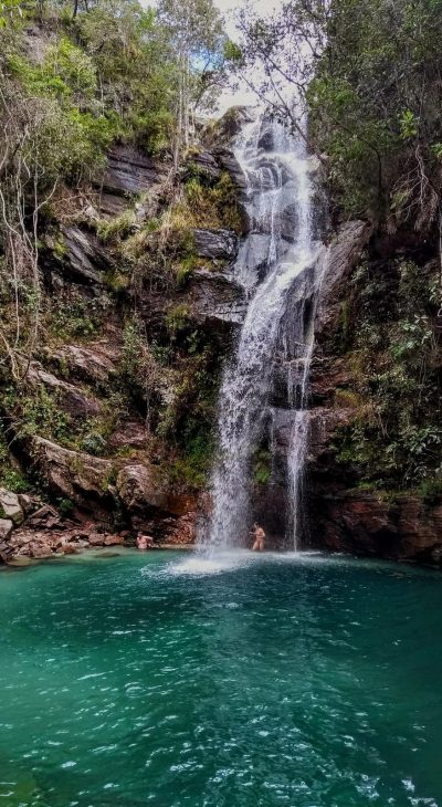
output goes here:
<path id="1" fill-rule="evenodd" d="M 355 417 L 337 430 L 335 450 L 339 463 L 378 488 L 415 489 L 441 472 L 436 282 L 436 265 L 410 261 L 366 263 L 355 273 L 347 391 Z"/>

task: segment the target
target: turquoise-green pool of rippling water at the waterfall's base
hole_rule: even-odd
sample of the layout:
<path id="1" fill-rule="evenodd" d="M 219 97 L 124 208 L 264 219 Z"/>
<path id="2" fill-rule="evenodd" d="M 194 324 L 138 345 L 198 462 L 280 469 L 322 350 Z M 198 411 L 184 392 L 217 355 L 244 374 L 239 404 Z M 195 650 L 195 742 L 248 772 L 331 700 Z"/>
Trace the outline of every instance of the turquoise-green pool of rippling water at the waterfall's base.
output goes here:
<path id="1" fill-rule="evenodd" d="M 320 555 L 0 574 L 0 807 L 442 806 L 442 576 Z"/>

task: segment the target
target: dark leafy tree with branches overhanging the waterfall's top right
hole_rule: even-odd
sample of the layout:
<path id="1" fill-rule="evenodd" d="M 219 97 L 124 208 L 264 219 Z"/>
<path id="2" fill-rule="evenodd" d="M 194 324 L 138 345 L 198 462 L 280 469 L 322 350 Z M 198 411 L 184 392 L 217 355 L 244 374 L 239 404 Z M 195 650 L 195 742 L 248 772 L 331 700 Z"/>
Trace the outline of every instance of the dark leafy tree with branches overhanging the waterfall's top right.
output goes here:
<path id="1" fill-rule="evenodd" d="M 293 128 L 293 95 L 305 99 L 344 212 L 422 230 L 438 218 L 441 23 L 441 0 L 290 0 L 266 19 L 240 17 L 233 61 Z"/>

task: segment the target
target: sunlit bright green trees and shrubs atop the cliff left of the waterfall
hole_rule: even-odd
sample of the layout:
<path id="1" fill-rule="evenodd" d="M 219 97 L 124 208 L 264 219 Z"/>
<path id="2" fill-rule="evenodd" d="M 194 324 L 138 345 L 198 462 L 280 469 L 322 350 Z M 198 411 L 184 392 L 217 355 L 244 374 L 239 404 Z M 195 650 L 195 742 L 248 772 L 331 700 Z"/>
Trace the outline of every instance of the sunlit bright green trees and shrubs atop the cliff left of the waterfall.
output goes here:
<path id="1" fill-rule="evenodd" d="M 211 0 L 158 11 L 137 0 L 0 4 L 0 360 L 17 381 L 19 354 L 31 356 L 41 337 L 40 234 L 51 202 L 96 177 L 116 140 L 173 156 L 172 191 L 190 115 L 221 75 L 222 43 Z M 98 234 L 122 239 L 134 223 L 127 213 L 101 222 Z M 54 256 L 64 256 L 61 241 Z"/>

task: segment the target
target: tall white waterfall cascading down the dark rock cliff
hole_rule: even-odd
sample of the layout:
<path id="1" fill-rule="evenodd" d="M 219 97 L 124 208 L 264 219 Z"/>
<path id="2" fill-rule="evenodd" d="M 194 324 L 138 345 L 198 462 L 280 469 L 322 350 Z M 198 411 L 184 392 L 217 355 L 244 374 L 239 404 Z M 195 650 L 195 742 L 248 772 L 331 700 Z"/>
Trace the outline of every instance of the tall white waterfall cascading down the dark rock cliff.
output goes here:
<path id="1" fill-rule="evenodd" d="M 252 454 L 269 420 L 269 397 L 281 340 L 286 344 L 288 367 L 292 356 L 299 366 L 304 361 L 301 385 L 298 380 L 287 385 L 292 387 L 291 406 L 297 409 L 288 457 L 295 536 L 307 439 L 303 409 L 313 319 L 312 315 L 305 317 L 305 308 L 316 283 L 317 244 L 312 234 L 312 182 L 305 139 L 292 137 L 284 126 L 261 116 L 244 126 L 235 156 L 246 177 L 251 232 L 240 250 L 234 273 L 250 302 L 220 392 L 219 449 L 211 480 L 213 509 L 204 542 L 211 547 L 241 546 L 246 542 Z M 284 319 L 290 317 L 284 315 L 293 289 L 297 302 L 290 335 L 284 329 Z M 301 352 L 297 342 L 302 343 Z"/>

